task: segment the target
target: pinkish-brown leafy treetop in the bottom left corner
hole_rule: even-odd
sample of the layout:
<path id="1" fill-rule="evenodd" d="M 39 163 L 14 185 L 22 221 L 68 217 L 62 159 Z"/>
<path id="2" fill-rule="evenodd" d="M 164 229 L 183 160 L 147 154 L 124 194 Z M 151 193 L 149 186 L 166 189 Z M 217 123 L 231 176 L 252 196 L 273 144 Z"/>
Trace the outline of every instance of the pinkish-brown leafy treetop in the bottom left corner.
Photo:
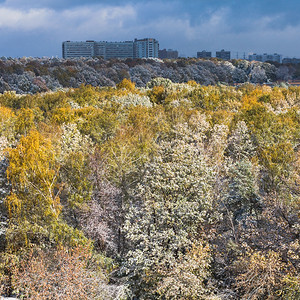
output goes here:
<path id="1" fill-rule="evenodd" d="M 91 263 L 88 248 L 32 250 L 15 268 L 13 286 L 26 299 L 104 299 L 104 275 Z"/>

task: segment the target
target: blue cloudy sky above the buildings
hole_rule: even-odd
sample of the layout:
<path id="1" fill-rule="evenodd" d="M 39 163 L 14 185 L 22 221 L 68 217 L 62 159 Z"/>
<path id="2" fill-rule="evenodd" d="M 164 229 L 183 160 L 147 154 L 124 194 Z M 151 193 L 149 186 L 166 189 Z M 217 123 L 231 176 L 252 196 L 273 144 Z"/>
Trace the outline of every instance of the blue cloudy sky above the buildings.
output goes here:
<path id="1" fill-rule="evenodd" d="M 61 57 L 63 41 L 152 37 L 181 55 L 300 57 L 299 0 L 0 0 L 0 56 Z"/>

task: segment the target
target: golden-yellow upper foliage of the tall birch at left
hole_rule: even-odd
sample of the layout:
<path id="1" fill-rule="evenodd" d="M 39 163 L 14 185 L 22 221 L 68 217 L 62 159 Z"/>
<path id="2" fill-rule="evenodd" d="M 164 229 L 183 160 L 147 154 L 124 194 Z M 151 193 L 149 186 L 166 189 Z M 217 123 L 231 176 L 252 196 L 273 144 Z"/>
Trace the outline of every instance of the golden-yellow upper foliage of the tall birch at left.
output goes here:
<path id="1" fill-rule="evenodd" d="M 61 211 L 55 193 L 58 165 L 50 141 L 33 130 L 15 149 L 8 149 L 8 159 L 12 192 L 6 206 L 11 221 L 22 227 L 24 222 L 43 226 L 57 220 Z"/>

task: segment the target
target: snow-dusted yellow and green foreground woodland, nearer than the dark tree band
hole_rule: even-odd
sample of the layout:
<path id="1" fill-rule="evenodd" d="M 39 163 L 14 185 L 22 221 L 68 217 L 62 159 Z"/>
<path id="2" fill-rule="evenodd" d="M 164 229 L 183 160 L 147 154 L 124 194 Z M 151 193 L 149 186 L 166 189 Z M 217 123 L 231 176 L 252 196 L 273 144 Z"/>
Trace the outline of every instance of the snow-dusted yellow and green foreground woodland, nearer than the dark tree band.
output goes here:
<path id="1" fill-rule="evenodd" d="M 104 85 L 94 61 L 19 60 L 14 89 L 62 70 Z M 196 82 L 228 82 L 202 69 L 225 62 L 101 63 L 116 86 L 0 94 L 0 295 L 299 299 L 300 88 Z M 152 79 L 170 70 L 196 81 Z"/>

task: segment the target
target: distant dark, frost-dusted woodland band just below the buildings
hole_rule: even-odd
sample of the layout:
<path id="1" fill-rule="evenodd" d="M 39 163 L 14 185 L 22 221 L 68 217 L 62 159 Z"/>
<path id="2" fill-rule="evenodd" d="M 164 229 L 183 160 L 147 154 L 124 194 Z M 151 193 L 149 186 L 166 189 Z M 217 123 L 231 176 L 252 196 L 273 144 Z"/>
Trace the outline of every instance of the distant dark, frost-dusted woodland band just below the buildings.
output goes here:
<path id="1" fill-rule="evenodd" d="M 275 64 L 275 65 L 274 65 Z M 203 85 L 219 82 L 270 83 L 300 78 L 299 65 L 249 62 L 247 60 L 223 61 L 202 59 L 126 59 L 101 58 L 2 58 L 0 59 L 0 93 L 16 91 L 18 94 L 57 91 L 77 88 L 81 84 L 115 86 L 124 78 L 137 87 L 157 77 L 183 83 L 194 80 Z"/>

